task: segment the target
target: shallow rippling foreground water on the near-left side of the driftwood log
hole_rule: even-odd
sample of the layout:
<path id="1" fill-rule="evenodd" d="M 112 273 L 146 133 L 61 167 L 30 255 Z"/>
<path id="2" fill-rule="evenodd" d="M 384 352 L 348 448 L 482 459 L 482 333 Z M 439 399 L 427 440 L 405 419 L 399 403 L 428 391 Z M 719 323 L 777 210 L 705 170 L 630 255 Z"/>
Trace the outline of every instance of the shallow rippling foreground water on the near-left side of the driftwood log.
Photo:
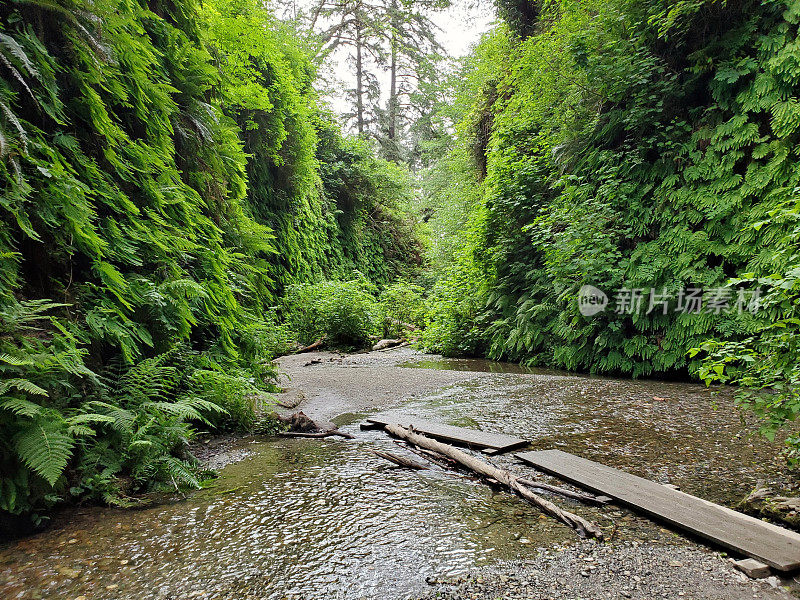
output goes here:
<path id="1" fill-rule="evenodd" d="M 572 536 L 483 484 L 393 468 L 369 449 L 404 450 L 368 436 L 256 443 L 186 502 L 89 511 L 0 551 L 3 597 L 102 597 L 109 585 L 122 598 L 410 594 L 425 576 L 517 556 L 526 535 Z"/>

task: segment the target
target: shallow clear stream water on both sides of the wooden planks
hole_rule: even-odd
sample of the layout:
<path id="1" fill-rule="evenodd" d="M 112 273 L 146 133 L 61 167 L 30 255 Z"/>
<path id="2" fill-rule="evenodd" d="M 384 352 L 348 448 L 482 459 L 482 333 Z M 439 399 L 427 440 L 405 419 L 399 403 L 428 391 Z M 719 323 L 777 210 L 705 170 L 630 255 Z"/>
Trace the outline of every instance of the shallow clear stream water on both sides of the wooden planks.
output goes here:
<path id="1" fill-rule="evenodd" d="M 405 367 L 475 377 L 388 408 L 519 435 L 534 448 L 561 448 L 729 505 L 757 481 L 785 477 L 779 445 L 754 436 L 727 397 L 702 386 L 424 356 Z M 337 367 L 325 368 L 335 377 Z M 212 488 L 135 511 L 79 509 L 2 544 L 0 597 L 406 598 L 426 578 L 575 539 L 470 478 L 393 468 L 369 450 L 408 451 L 383 433 L 358 431 L 362 417 L 336 419 L 356 440 L 243 439 Z M 513 456 L 493 460 L 535 475 Z M 628 511 L 558 502 L 614 531 L 612 543 L 693 543 Z"/>

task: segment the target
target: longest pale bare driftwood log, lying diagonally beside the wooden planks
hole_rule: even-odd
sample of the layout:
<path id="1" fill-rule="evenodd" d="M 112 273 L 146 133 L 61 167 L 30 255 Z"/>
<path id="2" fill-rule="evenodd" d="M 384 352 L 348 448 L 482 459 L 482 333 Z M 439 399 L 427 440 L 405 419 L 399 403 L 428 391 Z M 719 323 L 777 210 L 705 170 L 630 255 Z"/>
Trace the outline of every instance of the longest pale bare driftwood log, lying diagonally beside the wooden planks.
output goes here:
<path id="1" fill-rule="evenodd" d="M 603 530 L 597 525 L 587 521 L 583 517 L 580 517 L 569 511 L 562 510 L 549 500 L 545 500 L 538 494 L 534 494 L 530 489 L 525 487 L 525 485 L 520 482 L 516 475 L 510 471 L 499 469 L 484 460 L 472 456 L 471 454 L 467 454 L 463 450 L 459 450 L 458 448 L 448 444 L 443 444 L 442 442 L 438 442 L 424 435 L 420 435 L 415 433 L 413 430 L 406 429 L 400 425 L 389 424 L 385 426 L 385 429 L 395 437 L 406 440 L 407 442 L 410 442 L 420 448 L 425 448 L 427 450 L 432 450 L 434 452 L 443 454 L 456 461 L 462 467 L 474 471 L 482 477 L 494 480 L 498 484 L 509 488 L 534 506 L 538 507 L 542 512 L 554 517 L 565 525 L 572 527 L 580 537 L 585 538 L 591 536 L 597 538 L 598 540 L 603 539 Z"/>

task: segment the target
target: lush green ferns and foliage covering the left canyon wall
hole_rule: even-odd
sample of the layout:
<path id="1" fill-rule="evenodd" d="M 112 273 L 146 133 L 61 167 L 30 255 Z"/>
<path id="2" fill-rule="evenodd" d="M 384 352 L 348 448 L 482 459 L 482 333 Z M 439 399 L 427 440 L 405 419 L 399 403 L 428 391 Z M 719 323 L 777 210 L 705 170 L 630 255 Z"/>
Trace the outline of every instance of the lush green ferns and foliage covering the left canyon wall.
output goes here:
<path id="1" fill-rule="evenodd" d="M 419 261 L 407 174 L 314 77 L 254 0 L 0 7 L 0 517 L 196 487 L 187 440 L 274 389 L 284 290 Z"/>

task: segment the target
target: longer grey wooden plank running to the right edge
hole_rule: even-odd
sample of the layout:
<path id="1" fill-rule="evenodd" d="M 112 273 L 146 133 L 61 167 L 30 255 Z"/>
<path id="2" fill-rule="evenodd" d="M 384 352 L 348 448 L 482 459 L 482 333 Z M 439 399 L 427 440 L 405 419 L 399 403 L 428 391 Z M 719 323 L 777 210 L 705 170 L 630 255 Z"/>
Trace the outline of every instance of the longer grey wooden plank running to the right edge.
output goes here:
<path id="1" fill-rule="evenodd" d="M 537 469 L 605 494 L 779 571 L 800 568 L 800 534 L 561 450 L 516 455 Z"/>

